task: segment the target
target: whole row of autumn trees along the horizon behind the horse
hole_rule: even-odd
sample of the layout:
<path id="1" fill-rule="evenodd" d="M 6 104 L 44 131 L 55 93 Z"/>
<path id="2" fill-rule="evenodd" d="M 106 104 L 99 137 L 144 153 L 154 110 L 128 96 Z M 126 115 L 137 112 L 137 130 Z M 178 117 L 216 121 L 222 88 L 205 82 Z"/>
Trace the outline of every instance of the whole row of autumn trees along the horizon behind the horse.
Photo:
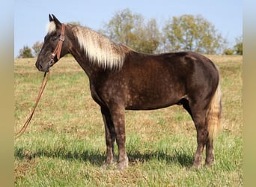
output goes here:
<path id="1" fill-rule="evenodd" d="M 72 22 L 81 25 L 79 22 Z M 129 9 L 116 12 L 99 30 L 115 43 L 121 43 L 144 53 L 193 51 L 203 54 L 243 55 L 243 38 L 236 38 L 233 48 L 215 26 L 201 15 L 173 16 L 162 29 L 156 19 L 146 21 L 139 13 Z M 43 42 L 19 50 L 18 58 L 37 57 Z"/>

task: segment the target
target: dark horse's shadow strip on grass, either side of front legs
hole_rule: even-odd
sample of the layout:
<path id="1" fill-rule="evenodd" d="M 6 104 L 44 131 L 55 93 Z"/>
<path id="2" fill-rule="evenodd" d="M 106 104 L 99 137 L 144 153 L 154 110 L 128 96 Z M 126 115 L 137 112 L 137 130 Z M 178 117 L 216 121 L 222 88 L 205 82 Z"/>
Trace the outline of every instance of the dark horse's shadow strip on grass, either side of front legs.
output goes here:
<path id="1" fill-rule="evenodd" d="M 16 148 L 14 150 L 14 156 L 18 159 L 34 159 L 36 157 L 46 156 L 49 158 L 67 159 L 67 160 L 80 160 L 82 162 L 90 162 L 91 165 L 100 167 L 106 159 L 105 153 L 101 153 L 99 150 L 84 150 L 82 153 L 78 153 L 76 150 L 65 150 L 64 147 L 60 147 L 58 150 L 37 150 L 31 152 L 25 150 L 23 147 Z M 173 153 L 165 153 L 161 150 L 146 151 L 140 153 L 136 150 L 127 153 L 129 162 L 149 162 L 151 160 L 164 161 L 167 164 L 177 164 L 182 167 L 190 167 L 193 162 L 193 156 L 184 153 L 183 151 L 174 150 Z"/>

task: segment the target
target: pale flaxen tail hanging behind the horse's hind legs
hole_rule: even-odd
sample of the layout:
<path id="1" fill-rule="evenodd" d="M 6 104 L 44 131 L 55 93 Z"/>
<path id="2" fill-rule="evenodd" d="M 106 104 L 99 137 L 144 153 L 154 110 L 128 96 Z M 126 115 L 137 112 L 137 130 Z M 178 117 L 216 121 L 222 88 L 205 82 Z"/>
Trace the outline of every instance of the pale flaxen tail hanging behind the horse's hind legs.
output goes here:
<path id="1" fill-rule="evenodd" d="M 210 105 L 207 111 L 207 130 L 209 132 L 210 140 L 213 140 L 218 132 L 222 130 L 221 124 L 222 114 L 222 91 L 220 86 L 220 80 L 216 91 L 210 101 Z"/>

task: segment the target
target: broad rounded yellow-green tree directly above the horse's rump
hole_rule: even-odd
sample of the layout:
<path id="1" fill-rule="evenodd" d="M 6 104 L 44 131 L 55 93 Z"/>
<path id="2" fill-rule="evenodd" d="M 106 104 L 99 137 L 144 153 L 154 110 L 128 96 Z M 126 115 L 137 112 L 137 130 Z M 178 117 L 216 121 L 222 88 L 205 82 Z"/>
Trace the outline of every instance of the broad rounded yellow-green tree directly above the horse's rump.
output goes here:
<path id="1" fill-rule="evenodd" d="M 163 28 L 168 51 L 194 51 L 206 54 L 220 52 L 225 39 L 203 16 L 174 16 Z"/>

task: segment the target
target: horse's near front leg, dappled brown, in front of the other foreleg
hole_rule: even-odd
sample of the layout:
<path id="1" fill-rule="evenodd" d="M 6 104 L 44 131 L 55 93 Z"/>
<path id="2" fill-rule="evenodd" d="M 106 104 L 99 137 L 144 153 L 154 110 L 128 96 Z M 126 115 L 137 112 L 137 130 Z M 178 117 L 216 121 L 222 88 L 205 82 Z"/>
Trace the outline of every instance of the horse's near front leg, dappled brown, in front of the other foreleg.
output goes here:
<path id="1" fill-rule="evenodd" d="M 115 127 L 116 141 L 118 144 L 118 170 L 128 167 L 128 157 L 125 149 L 125 124 L 124 124 L 124 105 L 117 103 L 109 108 L 112 122 Z"/>

